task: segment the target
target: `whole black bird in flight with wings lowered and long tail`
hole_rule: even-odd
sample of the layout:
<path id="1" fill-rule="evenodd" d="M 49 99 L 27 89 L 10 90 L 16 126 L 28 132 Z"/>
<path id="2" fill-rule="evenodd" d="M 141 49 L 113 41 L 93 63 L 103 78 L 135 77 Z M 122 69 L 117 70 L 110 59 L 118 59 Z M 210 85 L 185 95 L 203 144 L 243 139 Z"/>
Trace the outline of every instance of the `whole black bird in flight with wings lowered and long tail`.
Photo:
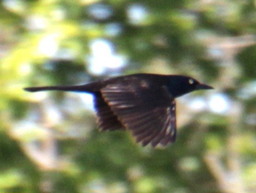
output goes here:
<path id="1" fill-rule="evenodd" d="M 30 87 L 26 91 L 74 91 L 94 95 L 101 130 L 131 130 L 136 142 L 166 146 L 176 139 L 175 98 L 195 90 L 213 89 L 192 77 L 132 74 L 80 86 Z"/>

